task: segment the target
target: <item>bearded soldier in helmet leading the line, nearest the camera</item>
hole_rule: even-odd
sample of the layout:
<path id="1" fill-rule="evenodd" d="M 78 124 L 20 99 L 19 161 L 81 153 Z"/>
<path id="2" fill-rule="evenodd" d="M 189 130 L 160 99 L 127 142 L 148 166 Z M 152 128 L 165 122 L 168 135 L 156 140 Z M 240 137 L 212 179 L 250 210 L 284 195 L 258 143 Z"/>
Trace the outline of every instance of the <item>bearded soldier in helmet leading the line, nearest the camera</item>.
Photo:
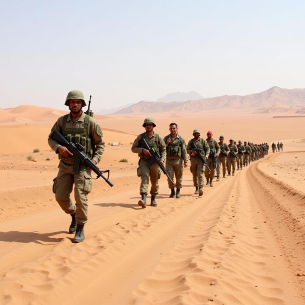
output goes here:
<path id="1" fill-rule="evenodd" d="M 88 158 L 95 164 L 99 163 L 105 149 L 103 133 L 96 120 L 82 111 L 82 107 L 86 106 L 83 93 L 77 90 L 70 91 L 65 105 L 69 106 L 70 113 L 59 117 L 52 131 L 57 129 L 69 142 L 80 142 L 85 147 L 83 152 Z M 48 144 L 59 154 L 60 159 L 53 192 L 59 206 L 72 217 L 69 227 L 70 234 L 75 232 L 72 242 L 82 242 L 84 224 L 88 221 L 87 196 L 92 189 L 91 169 L 81 164 L 79 173 L 75 173 L 73 154 L 65 146 L 50 138 L 50 135 Z M 70 199 L 73 185 L 75 204 Z"/>

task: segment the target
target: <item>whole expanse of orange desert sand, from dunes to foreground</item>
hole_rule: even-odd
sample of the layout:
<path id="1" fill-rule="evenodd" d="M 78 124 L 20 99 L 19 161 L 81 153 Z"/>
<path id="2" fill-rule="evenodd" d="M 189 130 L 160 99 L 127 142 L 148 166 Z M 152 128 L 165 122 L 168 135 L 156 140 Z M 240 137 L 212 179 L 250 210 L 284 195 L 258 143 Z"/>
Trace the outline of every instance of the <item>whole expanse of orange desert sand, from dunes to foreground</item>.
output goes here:
<path id="1" fill-rule="evenodd" d="M 282 141 L 284 151 L 270 147 L 204 187 L 202 198 L 189 167 L 181 199 L 168 197 L 162 175 L 158 206 L 142 209 L 130 143 L 150 114 L 96 116 L 106 142 L 98 166 L 110 169 L 114 186 L 93 182 L 85 240 L 73 244 L 70 216 L 52 193 L 58 159 L 47 144 L 65 112 L 23 105 L 0 113 L 0 304 L 305 303 L 304 118 L 238 109 L 151 114 L 162 136 L 174 121 L 187 141 L 199 128 L 225 142 Z"/>

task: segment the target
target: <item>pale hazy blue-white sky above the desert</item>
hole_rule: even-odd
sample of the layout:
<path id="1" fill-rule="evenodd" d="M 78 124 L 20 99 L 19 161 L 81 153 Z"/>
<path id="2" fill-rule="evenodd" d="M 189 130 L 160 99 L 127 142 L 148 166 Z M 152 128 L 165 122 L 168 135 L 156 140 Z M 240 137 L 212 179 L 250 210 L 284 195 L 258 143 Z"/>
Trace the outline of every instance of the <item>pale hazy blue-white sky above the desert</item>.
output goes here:
<path id="1" fill-rule="evenodd" d="M 305 88 L 304 1 L 1 1 L 0 108 Z"/>

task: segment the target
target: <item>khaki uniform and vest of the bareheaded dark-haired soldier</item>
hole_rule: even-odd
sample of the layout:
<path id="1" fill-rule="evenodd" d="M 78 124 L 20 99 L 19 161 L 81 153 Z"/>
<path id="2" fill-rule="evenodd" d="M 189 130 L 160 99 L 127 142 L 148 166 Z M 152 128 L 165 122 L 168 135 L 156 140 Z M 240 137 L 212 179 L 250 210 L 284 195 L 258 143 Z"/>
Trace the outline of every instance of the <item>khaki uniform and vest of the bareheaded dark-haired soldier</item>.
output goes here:
<path id="1" fill-rule="evenodd" d="M 183 162 L 188 162 L 188 154 L 186 151 L 185 139 L 181 137 L 178 132 L 175 138 L 169 134 L 164 137 L 164 142 L 170 138 L 170 143 L 166 144 L 166 170 L 169 171 L 170 177 L 174 180 L 174 174 L 176 177 L 176 184 L 173 185 L 169 179 L 167 179 L 168 187 L 173 189 L 182 188 L 182 173 L 183 173 Z"/>

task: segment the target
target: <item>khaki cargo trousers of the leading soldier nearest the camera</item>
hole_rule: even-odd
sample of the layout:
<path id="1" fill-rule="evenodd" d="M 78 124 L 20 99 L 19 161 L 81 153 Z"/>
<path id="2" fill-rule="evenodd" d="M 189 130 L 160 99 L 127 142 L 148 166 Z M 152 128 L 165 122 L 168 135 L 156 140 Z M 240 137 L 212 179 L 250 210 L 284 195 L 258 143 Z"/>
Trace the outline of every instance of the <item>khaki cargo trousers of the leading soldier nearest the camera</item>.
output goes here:
<path id="1" fill-rule="evenodd" d="M 74 185 L 75 204 L 70 198 Z M 92 190 L 91 170 L 81 164 L 79 173 L 74 173 L 73 164 L 59 162 L 59 171 L 54 181 L 53 192 L 59 206 L 67 213 L 75 211 L 78 224 L 88 221 L 88 193 Z"/>

